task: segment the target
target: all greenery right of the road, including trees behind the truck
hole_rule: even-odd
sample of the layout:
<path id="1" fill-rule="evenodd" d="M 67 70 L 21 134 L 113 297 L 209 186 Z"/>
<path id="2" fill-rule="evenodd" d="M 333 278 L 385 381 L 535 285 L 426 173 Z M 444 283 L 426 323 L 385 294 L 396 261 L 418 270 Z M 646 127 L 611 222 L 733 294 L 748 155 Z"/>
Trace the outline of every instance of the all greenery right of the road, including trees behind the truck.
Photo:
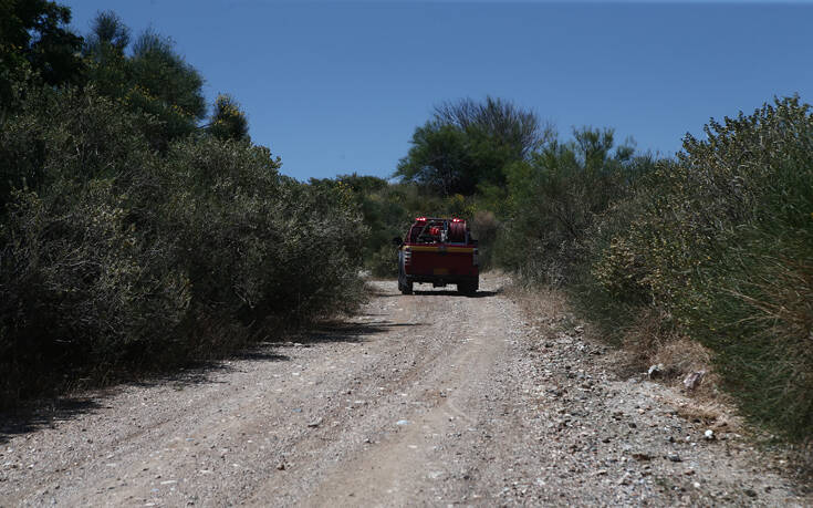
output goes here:
<path id="1" fill-rule="evenodd" d="M 780 97 L 703 133 L 664 158 L 618 143 L 612 128 L 563 139 L 521 106 L 465 100 L 416 128 L 397 183 L 351 187 L 375 204 L 365 221 L 376 230 L 403 234 L 415 215 L 470 219 L 487 267 L 564 291 L 633 367 L 663 363 L 676 381 L 712 370 L 708 382 L 746 416 L 805 440 L 813 112 Z M 406 198 L 415 194 L 426 198 Z M 392 270 L 379 263 L 392 259 L 387 237 L 368 240 L 375 273 Z"/>

